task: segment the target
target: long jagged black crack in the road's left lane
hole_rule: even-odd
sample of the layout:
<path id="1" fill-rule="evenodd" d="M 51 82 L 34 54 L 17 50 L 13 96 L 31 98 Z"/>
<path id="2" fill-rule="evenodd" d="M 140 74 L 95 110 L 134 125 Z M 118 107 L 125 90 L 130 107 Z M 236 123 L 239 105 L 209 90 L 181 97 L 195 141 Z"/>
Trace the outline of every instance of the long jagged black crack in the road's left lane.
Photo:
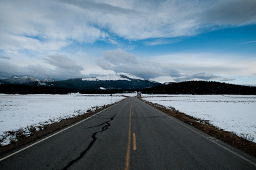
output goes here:
<path id="1" fill-rule="evenodd" d="M 98 133 L 100 133 L 100 132 L 103 132 L 103 131 L 107 130 L 108 127 L 110 126 L 109 122 L 112 121 L 112 120 L 115 118 L 115 116 L 116 116 L 116 114 L 115 114 L 114 116 L 112 116 L 109 121 L 106 121 L 106 122 L 104 122 L 104 123 L 101 123 L 100 125 L 95 126 L 95 127 L 99 127 L 99 126 L 101 126 L 101 125 L 106 124 L 104 127 L 101 128 L 100 131 L 95 132 L 95 133 L 92 135 L 93 141 L 89 144 L 89 146 L 86 148 L 86 150 L 84 150 L 84 151 L 80 154 L 79 157 L 77 157 L 76 159 L 70 161 L 70 162 L 67 164 L 67 166 L 65 166 L 65 167 L 63 168 L 63 170 L 68 169 L 70 166 L 72 166 L 74 163 L 76 163 L 79 159 L 81 159 L 81 158 L 85 155 L 85 153 L 86 153 L 88 150 L 90 150 L 90 148 L 93 146 L 93 144 L 94 144 L 95 141 L 97 140 L 97 137 L 95 137 L 95 135 L 98 134 Z M 90 128 L 92 128 L 92 127 L 90 127 Z"/>

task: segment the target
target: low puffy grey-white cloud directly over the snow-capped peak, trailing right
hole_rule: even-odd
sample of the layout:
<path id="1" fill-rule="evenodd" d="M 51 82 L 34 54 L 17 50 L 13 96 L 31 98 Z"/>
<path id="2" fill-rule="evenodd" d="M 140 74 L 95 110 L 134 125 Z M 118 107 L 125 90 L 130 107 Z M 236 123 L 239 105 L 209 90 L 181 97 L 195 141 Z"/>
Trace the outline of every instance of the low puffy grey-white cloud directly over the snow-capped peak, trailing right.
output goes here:
<path id="1" fill-rule="evenodd" d="M 174 81 L 191 81 L 191 80 L 217 80 L 221 79 L 221 76 L 214 75 L 213 73 L 199 72 L 196 70 L 191 75 L 189 72 L 180 73 L 179 68 L 175 66 L 164 65 L 163 63 L 170 63 L 172 59 L 158 58 L 159 62 L 141 61 L 134 57 L 133 54 L 126 52 L 122 49 L 108 50 L 104 52 L 104 59 L 98 61 L 98 65 L 105 70 L 113 70 L 114 72 L 127 72 L 138 75 L 145 79 L 157 79 L 157 77 L 172 77 Z M 195 69 L 195 68 L 194 68 Z M 193 68 L 192 68 L 193 70 Z M 231 79 L 230 79 L 231 81 Z"/>

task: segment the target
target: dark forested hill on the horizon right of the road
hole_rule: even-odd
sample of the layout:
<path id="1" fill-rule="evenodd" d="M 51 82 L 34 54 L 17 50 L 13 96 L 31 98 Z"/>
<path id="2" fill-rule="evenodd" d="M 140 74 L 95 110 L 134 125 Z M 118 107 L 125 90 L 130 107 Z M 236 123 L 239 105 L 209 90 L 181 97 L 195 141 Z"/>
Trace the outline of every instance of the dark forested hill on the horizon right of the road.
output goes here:
<path id="1" fill-rule="evenodd" d="M 141 92 L 149 94 L 256 95 L 256 87 L 223 82 L 187 81 L 142 89 Z"/>

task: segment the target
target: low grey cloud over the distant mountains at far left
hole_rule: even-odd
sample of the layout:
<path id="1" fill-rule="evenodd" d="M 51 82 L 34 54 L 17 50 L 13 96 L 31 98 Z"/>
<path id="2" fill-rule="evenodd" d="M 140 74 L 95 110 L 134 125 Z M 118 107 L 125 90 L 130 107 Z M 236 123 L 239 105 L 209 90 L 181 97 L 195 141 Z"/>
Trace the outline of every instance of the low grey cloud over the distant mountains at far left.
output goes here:
<path id="1" fill-rule="evenodd" d="M 69 79 L 70 77 L 84 77 L 81 71 L 83 66 L 78 65 L 74 59 L 70 59 L 63 55 L 51 55 L 44 58 L 44 61 L 54 68 L 45 65 L 33 64 L 26 66 L 18 66 L 10 62 L 0 62 L 0 77 L 8 78 L 12 75 L 29 75 L 36 79 L 45 79 L 51 77 L 56 80 Z"/>

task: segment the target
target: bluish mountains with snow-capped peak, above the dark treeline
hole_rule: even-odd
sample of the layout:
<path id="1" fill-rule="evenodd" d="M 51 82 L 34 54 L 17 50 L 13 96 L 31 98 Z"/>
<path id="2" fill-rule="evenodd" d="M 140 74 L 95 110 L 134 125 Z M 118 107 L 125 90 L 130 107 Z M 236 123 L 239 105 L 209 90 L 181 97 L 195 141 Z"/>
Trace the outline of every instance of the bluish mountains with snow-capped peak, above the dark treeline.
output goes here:
<path id="1" fill-rule="evenodd" d="M 102 75 L 99 77 L 68 79 L 65 81 L 55 81 L 45 79 L 40 81 L 33 77 L 19 77 L 14 75 L 9 79 L 0 79 L 0 84 L 22 84 L 28 86 L 51 86 L 54 88 L 66 88 L 77 91 L 90 89 L 143 89 L 160 86 L 161 83 L 143 79 L 131 73 L 115 73 Z"/>

